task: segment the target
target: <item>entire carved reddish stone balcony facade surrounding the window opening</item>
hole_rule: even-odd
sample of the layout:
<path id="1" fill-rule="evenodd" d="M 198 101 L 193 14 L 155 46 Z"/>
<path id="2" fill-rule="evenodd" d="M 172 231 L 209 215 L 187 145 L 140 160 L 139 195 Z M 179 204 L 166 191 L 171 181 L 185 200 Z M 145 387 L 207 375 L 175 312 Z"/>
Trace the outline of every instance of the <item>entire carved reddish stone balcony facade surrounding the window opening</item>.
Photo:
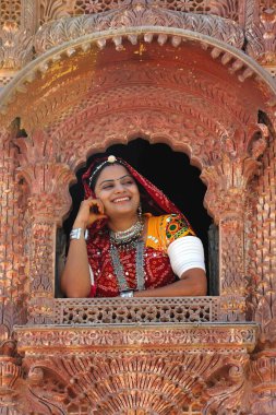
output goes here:
<path id="1" fill-rule="evenodd" d="M 275 34 L 274 0 L 0 0 L 0 414 L 276 414 Z M 217 295 L 62 298 L 70 187 L 137 138 L 200 169 Z"/>

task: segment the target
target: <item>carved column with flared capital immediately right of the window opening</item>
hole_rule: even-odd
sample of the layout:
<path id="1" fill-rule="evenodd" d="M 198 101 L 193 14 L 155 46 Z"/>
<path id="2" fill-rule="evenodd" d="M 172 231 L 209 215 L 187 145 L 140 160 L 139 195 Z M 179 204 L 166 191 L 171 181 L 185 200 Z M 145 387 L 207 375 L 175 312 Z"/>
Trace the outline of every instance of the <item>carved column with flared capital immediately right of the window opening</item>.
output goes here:
<path id="1" fill-rule="evenodd" d="M 245 319 L 245 193 L 249 180 L 256 174 L 260 165 L 256 159 L 266 146 L 267 137 L 263 126 L 259 124 L 259 129 L 248 141 L 238 134 L 236 140 L 223 138 L 225 153 L 220 163 L 204 168 L 201 176 L 208 186 L 206 206 L 219 227 L 220 318 L 226 321 Z M 244 147 L 239 149 L 244 141 L 245 152 Z"/>

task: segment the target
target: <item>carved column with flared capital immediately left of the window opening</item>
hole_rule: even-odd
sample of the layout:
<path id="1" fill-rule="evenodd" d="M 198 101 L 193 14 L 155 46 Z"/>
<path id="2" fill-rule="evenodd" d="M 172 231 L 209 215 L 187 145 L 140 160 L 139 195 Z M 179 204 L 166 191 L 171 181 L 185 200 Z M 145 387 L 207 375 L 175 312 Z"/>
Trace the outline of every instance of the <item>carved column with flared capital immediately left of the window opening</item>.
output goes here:
<path id="1" fill-rule="evenodd" d="M 69 211 L 69 166 L 58 161 L 58 144 L 43 131 L 16 140 L 21 149 L 19 176 L 29 186 L 29 308 L 28 321 L 50 323 L 55 298 L 57 225 Z"/>

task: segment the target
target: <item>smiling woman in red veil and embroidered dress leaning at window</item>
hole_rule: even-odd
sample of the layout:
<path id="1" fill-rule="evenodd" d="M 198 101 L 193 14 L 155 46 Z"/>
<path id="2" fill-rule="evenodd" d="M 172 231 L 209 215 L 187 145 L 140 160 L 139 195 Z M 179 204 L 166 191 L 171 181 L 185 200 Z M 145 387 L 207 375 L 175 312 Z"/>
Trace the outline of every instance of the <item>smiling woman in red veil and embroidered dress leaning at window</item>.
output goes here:
<path id="1" fill-rule="evenodd" d="M 115 156 L 93 163 L 83 183 L 61 276 L 68 297 L 206 294 L 202 242 L 159 189 Z"/>

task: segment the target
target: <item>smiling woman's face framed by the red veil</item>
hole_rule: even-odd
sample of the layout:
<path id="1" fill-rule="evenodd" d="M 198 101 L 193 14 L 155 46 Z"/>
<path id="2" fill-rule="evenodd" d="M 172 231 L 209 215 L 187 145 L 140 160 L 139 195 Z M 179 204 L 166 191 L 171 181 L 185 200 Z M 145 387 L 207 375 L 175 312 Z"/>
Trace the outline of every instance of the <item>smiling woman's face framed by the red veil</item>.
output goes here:
<path id="1" fill-rule="evenodd" d="M 105 214 L 110 218 L 136 213 L 140 204 L 139 188 L 125 167 L 115 164 L 105 167 L 96 181 L 95 194 L 100 199 Z"/>

